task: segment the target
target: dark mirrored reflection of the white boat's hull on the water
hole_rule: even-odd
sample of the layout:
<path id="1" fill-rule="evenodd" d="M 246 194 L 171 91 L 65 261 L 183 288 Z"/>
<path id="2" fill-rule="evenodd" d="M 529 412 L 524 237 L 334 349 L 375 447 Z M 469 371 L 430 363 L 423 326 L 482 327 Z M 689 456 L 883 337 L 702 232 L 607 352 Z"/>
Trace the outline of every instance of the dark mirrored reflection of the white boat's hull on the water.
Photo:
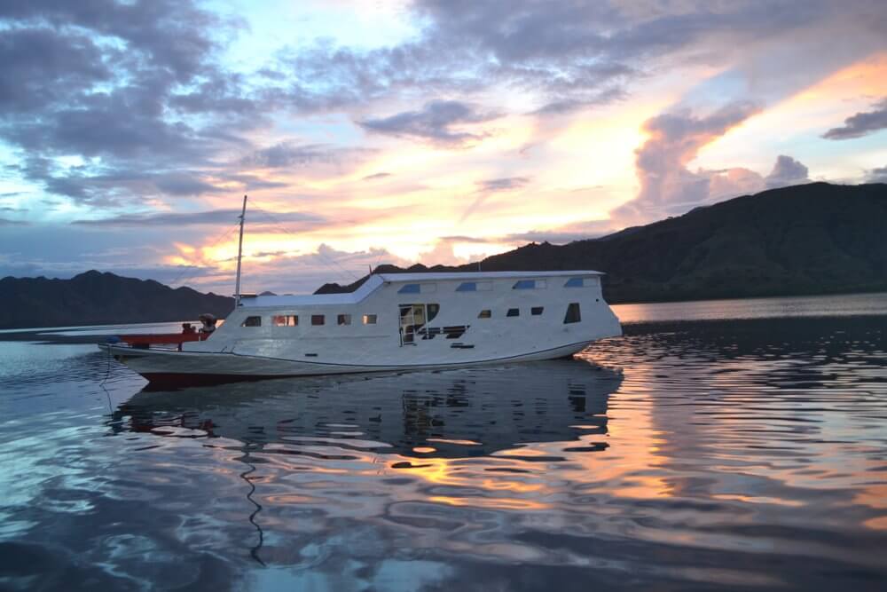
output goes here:
<path id="1" fill-rule="evenodd" d="M 176 436 L 198 430 L 192 435 L 232 438 L 252 450 L 314 440 L 420 458 L 483 456 L 605 434 L 607 398 L 621 382 L 614 370 L 569 359 L 145 390 L 117 409 L 111 425 Z M 595 446 L 606 445 L 589 450 Z"/>

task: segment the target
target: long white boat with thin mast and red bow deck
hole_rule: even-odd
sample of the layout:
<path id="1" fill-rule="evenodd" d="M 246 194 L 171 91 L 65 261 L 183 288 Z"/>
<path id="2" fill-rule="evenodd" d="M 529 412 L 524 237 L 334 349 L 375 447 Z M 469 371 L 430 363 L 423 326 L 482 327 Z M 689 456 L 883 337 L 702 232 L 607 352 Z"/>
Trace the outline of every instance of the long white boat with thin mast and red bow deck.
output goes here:
<path id="1" fill-rule="evenodd" d="M 109 355 L 150 383 L 188 385 L 557 359 L 622 335 L 592 270 L 371 273 L 349 293 L 241 294 L 246 207 L 224 323 L 102 344 Z"/>

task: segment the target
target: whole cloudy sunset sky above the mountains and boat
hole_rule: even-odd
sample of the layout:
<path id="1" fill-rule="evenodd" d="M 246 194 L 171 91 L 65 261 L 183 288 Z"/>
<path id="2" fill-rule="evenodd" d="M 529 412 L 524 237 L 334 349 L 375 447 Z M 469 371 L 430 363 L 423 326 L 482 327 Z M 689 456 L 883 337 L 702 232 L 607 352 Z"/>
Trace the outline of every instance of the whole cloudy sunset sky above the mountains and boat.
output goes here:
<path id="1" fill-rule="evenodd" d="M 887 182 L 883 0 L 9 0 L 0 277 L 230 294 Z M 606 270 L 604 270 L 606 271 Z"/>

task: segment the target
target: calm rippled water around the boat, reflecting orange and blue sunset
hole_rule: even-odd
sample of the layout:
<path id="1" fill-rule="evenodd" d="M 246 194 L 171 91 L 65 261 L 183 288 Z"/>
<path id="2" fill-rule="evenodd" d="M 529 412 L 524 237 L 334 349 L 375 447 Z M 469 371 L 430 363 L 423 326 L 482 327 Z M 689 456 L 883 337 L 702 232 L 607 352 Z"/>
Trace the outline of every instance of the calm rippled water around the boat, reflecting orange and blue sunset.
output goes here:
<path id="1" fill-rule="evenodd" d="M 0 341 L 0 588 L 883 590 L 887 296 L 812 301 L 176 392 Z"/>

